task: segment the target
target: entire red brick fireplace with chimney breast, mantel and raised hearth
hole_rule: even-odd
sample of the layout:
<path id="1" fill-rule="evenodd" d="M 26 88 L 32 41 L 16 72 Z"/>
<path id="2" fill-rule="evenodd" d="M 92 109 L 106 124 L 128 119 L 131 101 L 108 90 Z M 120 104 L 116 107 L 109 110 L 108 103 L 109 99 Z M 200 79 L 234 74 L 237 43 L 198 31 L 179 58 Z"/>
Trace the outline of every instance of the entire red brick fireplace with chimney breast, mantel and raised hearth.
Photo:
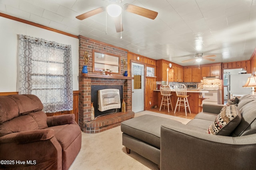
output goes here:
<path id="1" fill-rule="evenodd" d="M 127 62 L 127 51 L 119 47 L 114 47 L 96 40 L 79 36 L 79 126 L 85 133 L 99 133 L 107 129 L 119 126 L 120 123 L 126 119 L 134 117 L 132 112 L 132 78 L 123 75 L 102 75 L 92 73 L 92 57 L 88 62 L 88 73 L 82 74 L 82 67 L 84 65 L 84 52 L 88 51 L 92 56 L 92 49 L 113 53 L 119 55 L 121 61 Z M 121 73 L 124 72 L 123 64 L 121 62 Z M 126 103 L 125 113 L 112 113 L 111 115 L 102 115 L 96 120 L 91 121 L 91 88 L 94 85 L 110 86 L 118 85 L 123 87 L 123 99 Z M 94 109 L 98 109 L 94 105 Z"/>

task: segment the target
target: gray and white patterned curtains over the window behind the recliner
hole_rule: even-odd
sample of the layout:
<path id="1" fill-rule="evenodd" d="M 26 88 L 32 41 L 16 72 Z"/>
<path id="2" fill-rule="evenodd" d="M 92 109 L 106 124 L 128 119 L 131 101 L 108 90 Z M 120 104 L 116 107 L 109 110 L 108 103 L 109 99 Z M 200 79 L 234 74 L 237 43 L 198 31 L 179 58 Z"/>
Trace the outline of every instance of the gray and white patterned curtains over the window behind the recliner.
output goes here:
<path id="1" fill-rule="evenodd" d="M 40 98 L 44 111 L 73 109 L 71 45 L 19 35 L 19 94 Z"/>

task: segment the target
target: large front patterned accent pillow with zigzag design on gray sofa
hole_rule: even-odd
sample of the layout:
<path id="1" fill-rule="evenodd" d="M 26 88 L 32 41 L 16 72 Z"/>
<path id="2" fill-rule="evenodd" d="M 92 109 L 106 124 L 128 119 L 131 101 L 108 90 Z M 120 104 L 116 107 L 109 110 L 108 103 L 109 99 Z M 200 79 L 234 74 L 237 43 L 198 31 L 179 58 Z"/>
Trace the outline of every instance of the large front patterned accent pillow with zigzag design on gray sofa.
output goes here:
<path id="1" fill-rule="evenodd" d="M 236 129 L 241 119 L 241 113 L 237 109 L 237 104 L 230 105 L 218 114 L 206 133 L 228 136 Z"/>

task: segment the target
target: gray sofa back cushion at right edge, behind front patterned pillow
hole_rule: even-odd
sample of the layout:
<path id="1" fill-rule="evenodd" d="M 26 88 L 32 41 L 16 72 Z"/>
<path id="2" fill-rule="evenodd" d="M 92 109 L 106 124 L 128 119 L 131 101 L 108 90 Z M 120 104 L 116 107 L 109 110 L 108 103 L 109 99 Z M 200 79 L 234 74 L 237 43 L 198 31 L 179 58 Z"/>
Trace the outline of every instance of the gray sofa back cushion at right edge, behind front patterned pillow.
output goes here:
<path id="1" fill-rule="evenodd" d="M 244 99 L 242 101 L 247 101 Z M 232 137 L 244 136 L 256 133 L 256 100 L 249 102 L 240 109 L 242 119 L 236 129 L 230 134 Z M 238 104 L 239 105 L 239 104 Z"/>

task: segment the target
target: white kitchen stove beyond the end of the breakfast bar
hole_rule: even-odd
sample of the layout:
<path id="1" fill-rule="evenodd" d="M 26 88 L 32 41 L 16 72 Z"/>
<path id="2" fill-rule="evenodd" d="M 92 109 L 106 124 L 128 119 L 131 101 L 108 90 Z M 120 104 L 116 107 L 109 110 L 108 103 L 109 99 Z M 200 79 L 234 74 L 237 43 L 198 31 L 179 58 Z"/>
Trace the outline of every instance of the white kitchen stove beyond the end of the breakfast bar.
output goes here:
<path id="1" fill-rule="evenodd" d="M 203 104 L 220 104 L 219 101 L 219 86 L 218 85 L 203 85 L 203 89 L 208 92 L 202 93 L 204 96 Z"/>

